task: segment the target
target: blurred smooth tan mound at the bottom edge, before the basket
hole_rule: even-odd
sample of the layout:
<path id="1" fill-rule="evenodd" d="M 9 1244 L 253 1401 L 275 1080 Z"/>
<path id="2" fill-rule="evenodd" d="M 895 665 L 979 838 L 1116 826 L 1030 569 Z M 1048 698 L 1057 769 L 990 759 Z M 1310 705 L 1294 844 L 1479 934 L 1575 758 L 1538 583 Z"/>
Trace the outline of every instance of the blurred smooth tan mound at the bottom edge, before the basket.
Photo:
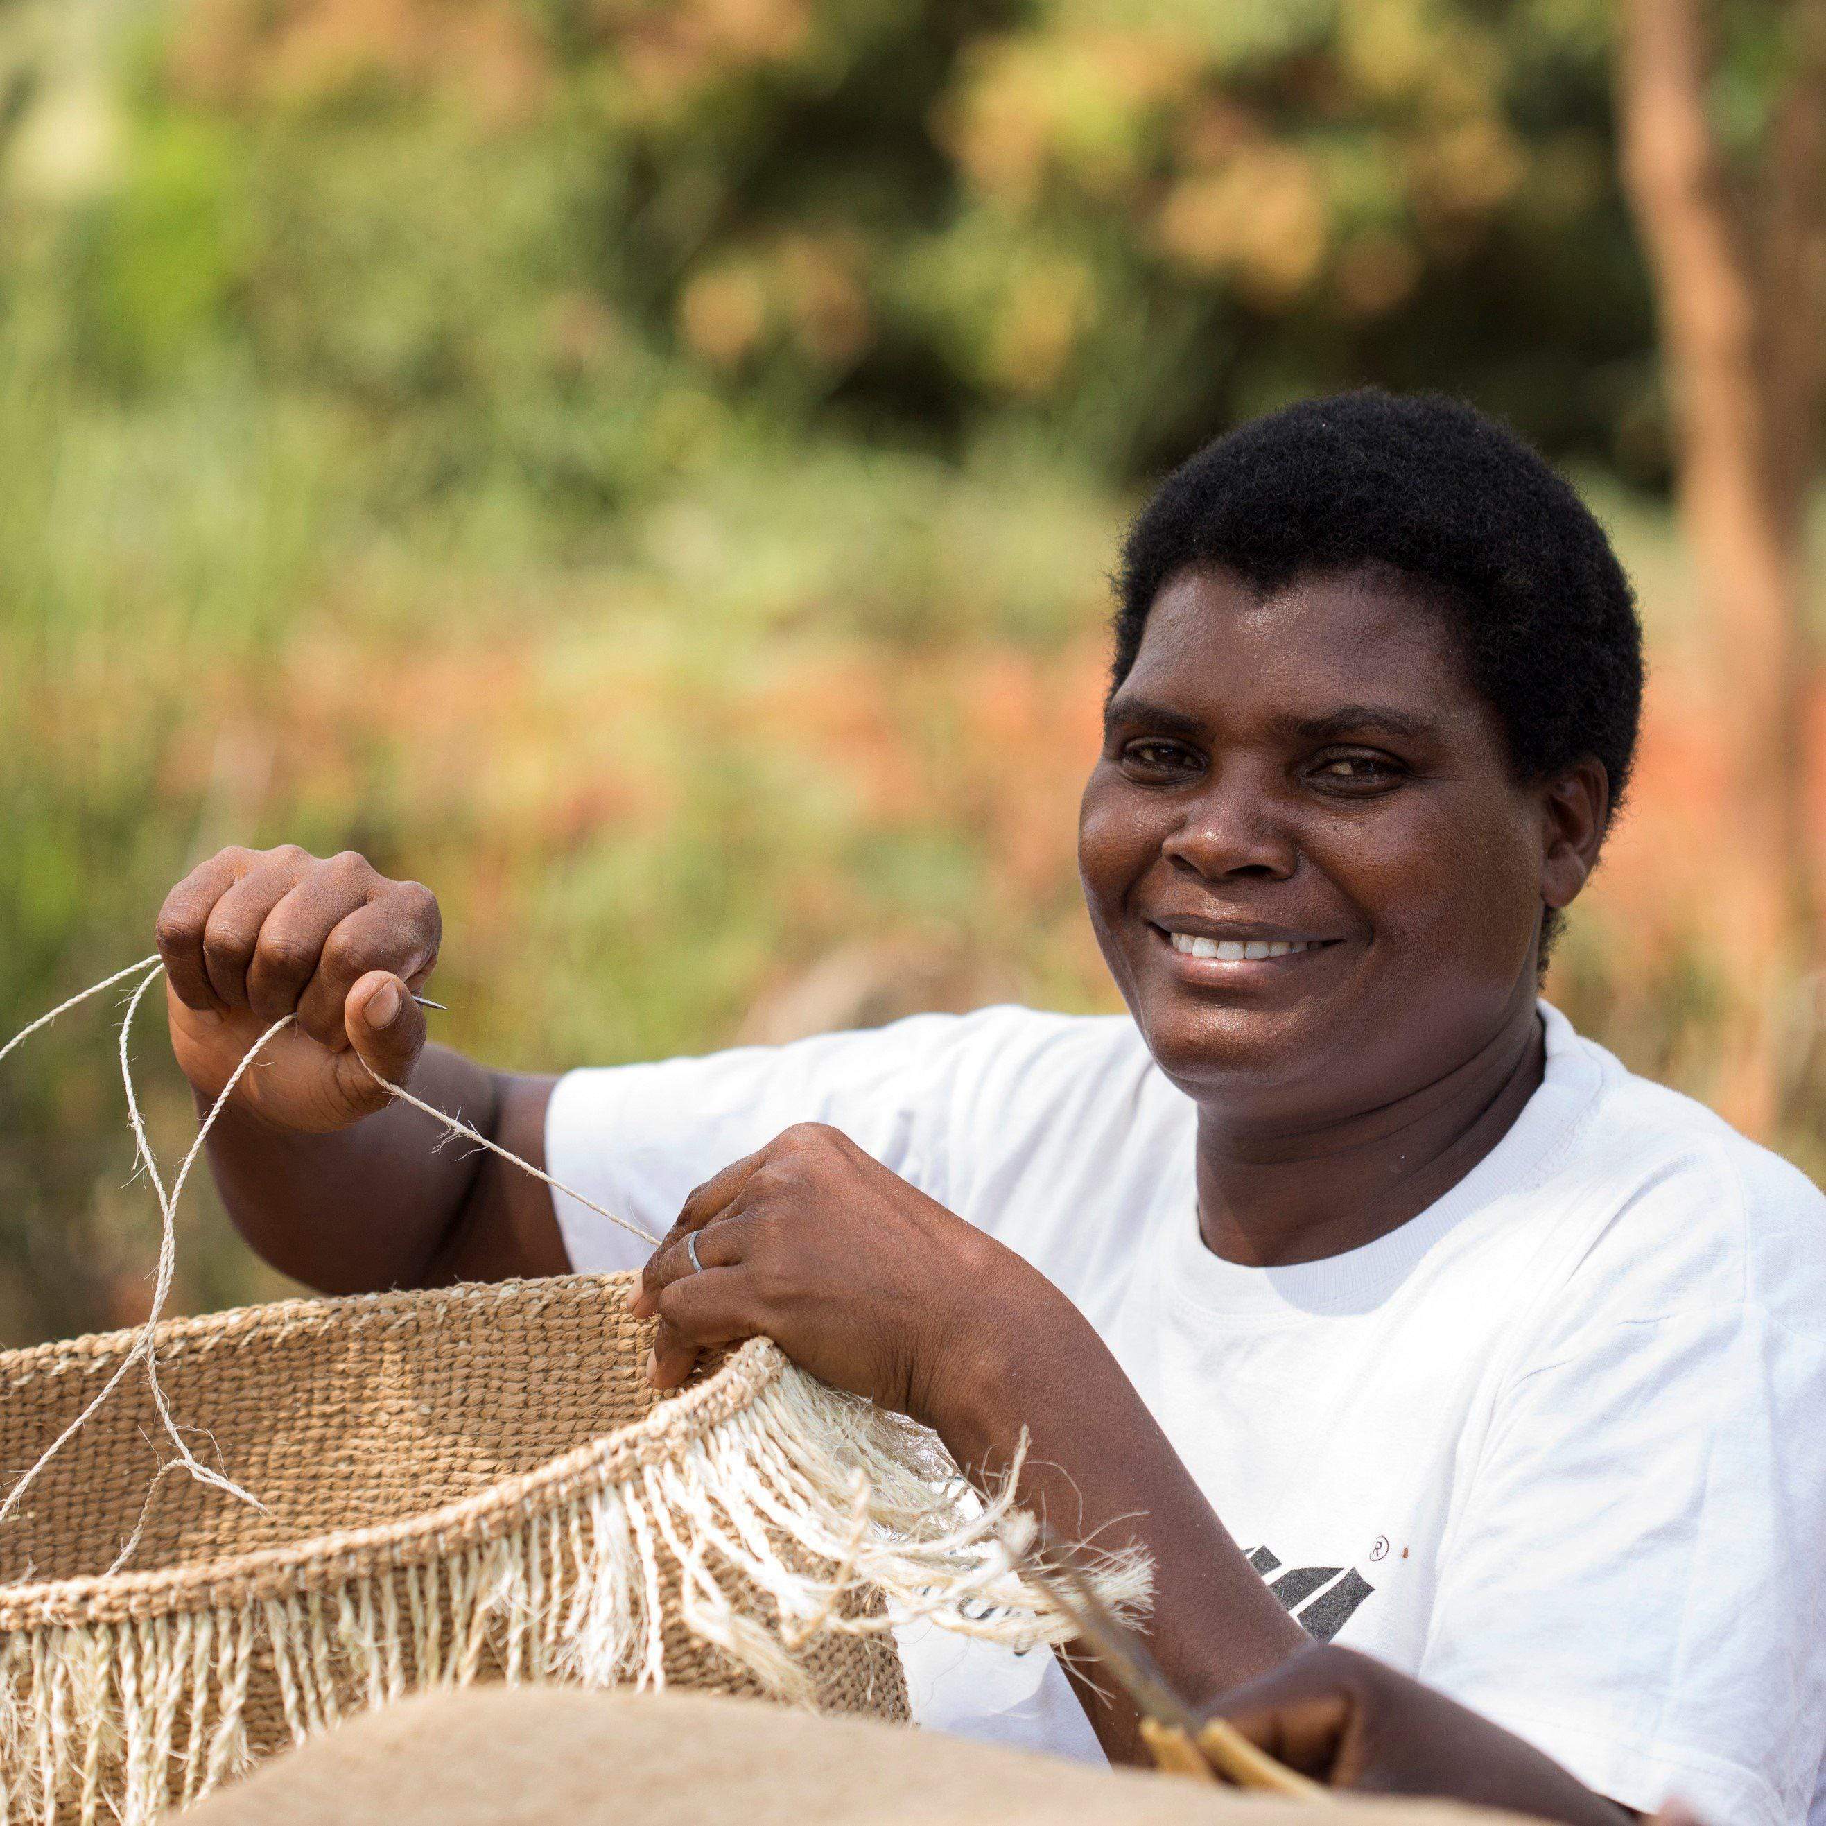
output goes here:
<path id="1" fill-rule="evenodd" d="M 701 1695 L 413 1700 L 215 1795 L 184 1826 L 1505 1826 L 1428 1802 L 1306 1806 Z M 1514 1822 L 1512 1822 L 1514 1826 Z"/>

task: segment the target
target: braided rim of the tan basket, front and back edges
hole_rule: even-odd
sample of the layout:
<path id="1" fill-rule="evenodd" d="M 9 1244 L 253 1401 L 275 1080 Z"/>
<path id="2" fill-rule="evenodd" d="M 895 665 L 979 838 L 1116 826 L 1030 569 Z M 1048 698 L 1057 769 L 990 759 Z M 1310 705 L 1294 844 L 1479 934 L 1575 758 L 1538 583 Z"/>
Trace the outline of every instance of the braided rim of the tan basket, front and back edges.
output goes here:
<path id="1" fill-rule="evenodd" d="M 553 1282 L 630 1282 L 634 1275 L 559 1275 Z M 515 1289 L 546 1287 L 542 1280 L 477 1282 L 440 1287 L 435 1293 L 345 1295 L 331 1300 L 276 1300 L 270 1306 L 236 1307 L 201 1318 L 168 1320 L 173 1335 L 199 1340 L 252 1337 L 261 1320 L 296 1317 L 325 1322 L 347 1311 L 385 1317 L 383 1309 L 415 1304 L 460 1302 L 466 1296 L 500 1296 Z M 553 1289 L 555 1291 L 555 1289 Z M 281 1324 L 289 1329 L 289 1324 Z M 161 1351 L 164 1326 L 159 1328 Z M 102 1355 L 102 1346 L 126 1346 L 135 1331 L 29 1346 L 0 1355 L 0 1386 L 7 1371 L 31 1368 L 29 1359 L 47 1357 L 58 1371 Z M 749 1338 L 701 1382 L 661 1401 L 648 1413 L 612 1433 L 599 1433 L 579 1446 L 513 1472 L 484 1490 L 400 1521 L 362 1528 L 334 1528 L 279 1547 L 259 1547 L 226 1559 L 192 1567 L 157 1567 L 144 1572 L 86 1572 L 69 1579 L 37 1579 L 0 1585 L 0 1631 L 80 1627 L 128 1618 L 168 1616 L 278 1598 L 321 1594 L 376 1572 L 405 1570 L 455 1552 L 482 1547 L 506 1532 L 500 1523 L 524 1527 L 575 1499 L 584 1488 L 626 1481 L 632 1474 L 670 1455 L 681 1433 L 701 1437 L 772 1388 L 791 1368 L 771 1338 Z M 257 1494 L 257 1492 L 256 1492 Z"/>

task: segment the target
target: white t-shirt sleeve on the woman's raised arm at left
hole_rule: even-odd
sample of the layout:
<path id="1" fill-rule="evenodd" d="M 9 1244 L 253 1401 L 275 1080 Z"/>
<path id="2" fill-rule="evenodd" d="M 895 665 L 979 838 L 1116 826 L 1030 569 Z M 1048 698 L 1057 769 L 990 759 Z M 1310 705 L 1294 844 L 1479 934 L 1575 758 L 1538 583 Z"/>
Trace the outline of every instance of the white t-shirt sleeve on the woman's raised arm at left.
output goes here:
<path id="1" fill-rule="evenodd" d="M 663 1236 L 694 1187 L 794 1123 L 829 1123 L 948 1202 L 951 1086 L 1024 1010 L 911 1015 L 785 1046 L 568 1072 L 546 1110 L 546 1169 L 604 1211 Z M 639 1267 L 646 1244 L 553 1192 L 572 1267 Z"/>

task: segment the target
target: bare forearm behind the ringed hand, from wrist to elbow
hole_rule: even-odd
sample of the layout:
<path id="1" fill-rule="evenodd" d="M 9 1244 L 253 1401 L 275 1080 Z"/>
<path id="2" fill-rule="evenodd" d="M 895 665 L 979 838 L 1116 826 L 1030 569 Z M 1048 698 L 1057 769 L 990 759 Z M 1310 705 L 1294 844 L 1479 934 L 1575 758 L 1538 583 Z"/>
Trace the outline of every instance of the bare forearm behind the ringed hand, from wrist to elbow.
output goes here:
<path id="1" fill-rule="evenodd" d="M 1052 1291 L 1052 1289 L 1048 1289 Z M 984 1488 L 1026 1457 L 1017 1497 L 1050 1534 L 1154 1563 L 1149 1647 L 1202 1707 L 1284 1662 L 1306 1640 L 1231 1539 L 1134 1384 L 1088 1320 L 1055 1291 L 1023 1300 L 1004 1328 L 971 1340 L 939 1432 Z M 1074 1645 L 1066 1658 L 1088 1665 Z M 1132 1707 L 1090 1667 L 1077 1695 L 1112 1760 L 1139 1755 Z"/>

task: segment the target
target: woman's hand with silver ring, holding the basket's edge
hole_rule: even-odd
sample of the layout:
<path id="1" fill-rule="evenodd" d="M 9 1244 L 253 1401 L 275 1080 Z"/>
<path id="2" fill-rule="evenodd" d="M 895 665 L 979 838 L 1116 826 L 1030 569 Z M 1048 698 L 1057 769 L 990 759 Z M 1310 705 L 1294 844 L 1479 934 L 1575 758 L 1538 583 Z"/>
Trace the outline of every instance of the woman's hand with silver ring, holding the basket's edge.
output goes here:
<path id="1" fill-rule="evenodd" d="M 634 1309 L 659 1315 L 657 1388 L 677 1388 L 707 1346 L 769 1337 L 802 1370 L 942 1433 L 1026 1300 L 1063 1296 L 840 1130 L 800 1123 L 685 1200 Z"/>

